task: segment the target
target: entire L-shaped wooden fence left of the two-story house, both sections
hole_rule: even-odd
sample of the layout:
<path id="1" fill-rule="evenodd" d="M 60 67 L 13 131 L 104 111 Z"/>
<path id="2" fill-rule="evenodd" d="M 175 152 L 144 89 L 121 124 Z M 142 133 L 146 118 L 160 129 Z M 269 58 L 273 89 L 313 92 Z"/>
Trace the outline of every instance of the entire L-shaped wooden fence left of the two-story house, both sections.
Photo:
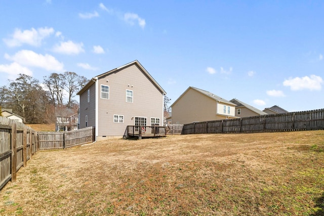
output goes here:
<path id="1" fill-rule="evenodd" d="M 67 148 L 94 141 L 95 128 L 71 132 L 36 132 L 23 123 L 0 116 L 0 190 L 15 182 L 17 171 L 40 149 Z"/>

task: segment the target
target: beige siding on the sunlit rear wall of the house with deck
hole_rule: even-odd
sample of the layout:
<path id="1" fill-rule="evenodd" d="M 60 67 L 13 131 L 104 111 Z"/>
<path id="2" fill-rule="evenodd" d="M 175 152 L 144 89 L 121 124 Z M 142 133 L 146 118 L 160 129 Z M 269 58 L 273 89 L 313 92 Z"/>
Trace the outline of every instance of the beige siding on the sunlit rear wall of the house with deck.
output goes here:
<path id="1" fill-rule="evenodd" d="M 98 89 L 98 136 L 123 136 L 135 116 L 146 117 L 147 125 L 151 117 L 163 119 L 163 93 L 135 63 L 101 76 L 98 84 L 109 85 L 109 99 Z M 126 101 L 126 90 L 133 91 L 133 102 Z M 124 123 L 115 123 L 114 115 L 123 115 Z"/>

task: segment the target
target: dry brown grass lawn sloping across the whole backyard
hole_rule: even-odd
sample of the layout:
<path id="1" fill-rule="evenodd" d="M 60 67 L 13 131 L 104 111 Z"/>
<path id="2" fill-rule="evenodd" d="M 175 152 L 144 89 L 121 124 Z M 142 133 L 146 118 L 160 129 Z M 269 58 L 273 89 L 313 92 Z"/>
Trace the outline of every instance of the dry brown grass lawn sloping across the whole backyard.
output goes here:
<path id="1" fill-rule="evenodd" d="M 109 140 L 41 151 L 11 215 L 323 215 L 324 131 Z"/>

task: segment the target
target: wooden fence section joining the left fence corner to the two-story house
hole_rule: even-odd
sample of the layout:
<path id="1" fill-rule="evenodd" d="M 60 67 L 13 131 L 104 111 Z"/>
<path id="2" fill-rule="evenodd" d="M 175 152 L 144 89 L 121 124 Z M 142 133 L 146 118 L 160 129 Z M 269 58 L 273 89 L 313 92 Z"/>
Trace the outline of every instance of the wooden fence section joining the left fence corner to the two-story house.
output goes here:
<path id="1" fill-rule="evenodd" d="M 94 141 L 95 127 L 68 132 L 38 132 L 39 149 L 64 149 Z"/>

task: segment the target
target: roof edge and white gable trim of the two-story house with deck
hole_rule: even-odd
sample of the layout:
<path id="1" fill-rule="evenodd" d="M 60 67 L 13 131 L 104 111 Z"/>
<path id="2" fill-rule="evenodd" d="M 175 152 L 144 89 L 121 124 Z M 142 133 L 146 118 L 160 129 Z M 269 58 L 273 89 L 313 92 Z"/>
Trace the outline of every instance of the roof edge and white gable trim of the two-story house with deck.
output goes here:
<path id="1" fill-rule="evenodd" d="M 135 61 L 132 61 L 126 65 L 123 65 L 123 66 L 120 66 L 120 67 L 117 67 L 115 69 L 112 69 L 110 71 L 107 71 L 105 73 L 102 73 L 98 76 L 95 76 L 93 77 L 92 79 L 90 79 L 90 81 L 78 92 L 76 93 L 77 95 L 81 95 L 84 91 L 86 91 L 94 82 L 96 82 L 96 80 L 102 76 L 105 76 L 109 73 L 113 73 L 117 70 L 120 70 L 120 69 L 123 69 L 123 68 L 126 68 L 132 64 L 136 64 L 138 67 L 140 67 L 142 69 L 142 71 L 147 75 L 147 77 L 156 85 L 156 87 L 161 91 L 161 93 L 163 94 L 167 94 L 164 89 L 162 89 L 162 87 L 160 87 L 160 85 L 155 81 L 155 79 L 147 72 L 147 70 L 139 63 L 139 61 L 135 60 Z"/>

